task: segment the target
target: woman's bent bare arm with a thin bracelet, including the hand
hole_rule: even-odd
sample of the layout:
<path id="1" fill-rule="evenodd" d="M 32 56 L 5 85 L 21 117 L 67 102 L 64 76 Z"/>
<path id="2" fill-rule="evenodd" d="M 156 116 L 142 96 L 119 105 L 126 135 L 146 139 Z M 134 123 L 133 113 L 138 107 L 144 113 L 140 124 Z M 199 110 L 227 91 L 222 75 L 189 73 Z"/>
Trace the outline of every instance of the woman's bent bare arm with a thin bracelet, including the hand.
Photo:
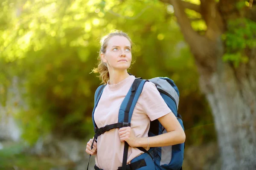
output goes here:
<path id="1" fill-rule="evenodd" d="M 175 115 L 170 112 L 158 118 L 159 122 L 166 129 L 167 133 L 147 138 L 137 138 L 131 127 L 119 129 L 119 136 L 122 142 L 126 141 L 131 147 L 162 147 L 185 142 L 186 135 Z"/>

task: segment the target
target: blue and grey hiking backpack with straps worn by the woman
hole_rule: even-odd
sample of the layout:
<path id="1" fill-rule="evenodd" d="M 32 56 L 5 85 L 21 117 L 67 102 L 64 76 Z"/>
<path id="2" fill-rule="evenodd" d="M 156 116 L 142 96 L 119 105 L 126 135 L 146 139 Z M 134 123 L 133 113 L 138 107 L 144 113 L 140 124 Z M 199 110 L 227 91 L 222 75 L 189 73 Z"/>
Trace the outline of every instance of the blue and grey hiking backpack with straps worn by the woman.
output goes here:
<path id="1" fill-rule="evenodd" d="M 94 108 L 92 113 L 95 132 L 93 142 L 97 140 L 98 136 L 113 128 L 131 126 L 131 116 L 134 111 L 134 107 L 140 97 L 143 86 L 147 81 L 153 82 L 156 85 L 157 90 L 160 92 L 160 95 L 162 96 L 168 107 L 171 109 L 172 113 L 175 114 L 177 120 L 180 122 L 180 125 L 184 130 L 182 117 L 180 114 L 177 113 L 179 103 L 179 91 L 173 80 L 167 77 L 156 77 L 149 80 L 136 78 L 120 106 L 118 122 L 100 128 L 97 127 L 94 121 L 94 111 L 96 106 L 98 105 L 105 85 L 101 85 L 99 86 L 99 88 L 97 88 L 94 96 Z M 166 133 L 166 130 L 157 119 L 150 122 L 150 129 L 148 132 L 149 137 L 160 135 L 163 133 Z M 131 161 L 131 164 L 127 165 L 126 162 L 128 157 L 128 143 L 125 142 L 122 167 L 119 167 L 118 170 L 149 170 L 152 167 L 155 167 L 156 170 L 182 170 L 184 148 L 185 143 L 164 147 L 151 147 L 148 151 L 145 150 L 143 147 L 138 147 L 138 149 L 142 150 L 145 153 L 137 156 Z M 96 166 L 95 169 L 101 170 Z"/>

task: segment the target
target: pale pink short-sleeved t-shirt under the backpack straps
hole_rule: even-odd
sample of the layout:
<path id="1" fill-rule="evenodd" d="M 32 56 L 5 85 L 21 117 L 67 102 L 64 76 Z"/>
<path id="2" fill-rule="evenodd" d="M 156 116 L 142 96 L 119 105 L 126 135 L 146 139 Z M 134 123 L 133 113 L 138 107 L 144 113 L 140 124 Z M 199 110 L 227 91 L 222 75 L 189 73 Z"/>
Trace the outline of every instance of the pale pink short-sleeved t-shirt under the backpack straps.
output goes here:
<path id="1" fill-rule="evenodd" d="M 129 76 L 116 85 L 106 85 L 94 112 L 98 127 L 118 122 L 120 105 L 134 79 L 134 76 Z M 148 137 L 150 120 L 153 121 L 170 112 L 156 86 L 152 82 L 145 82 L 131 118 L 131 128 L 135 136 Z M 124 142 L 120 141 L 118 130 L 112 129 L 98 137 L 95 162 L 96 166 L 103 170 L 117 170 L 122 166 Z M 136 147 L 129 147 L 127 163 L 142 153 Z"/>

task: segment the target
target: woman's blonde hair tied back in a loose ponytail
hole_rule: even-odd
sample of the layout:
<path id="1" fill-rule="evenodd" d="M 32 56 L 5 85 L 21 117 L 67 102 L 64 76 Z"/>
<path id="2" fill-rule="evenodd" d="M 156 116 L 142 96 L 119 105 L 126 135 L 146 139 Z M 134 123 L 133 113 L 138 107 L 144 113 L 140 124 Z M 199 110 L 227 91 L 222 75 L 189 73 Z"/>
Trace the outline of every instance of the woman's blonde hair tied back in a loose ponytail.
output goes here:
<path id="1" fill-rule="evenodd" d="M 93 68 L 92 72 L 93 73 L 99 73 L 99 79 L 102 80 L 102 84 L 107 84 L 108 80 L 109 80 L 109 72 L 108 72 L 108 67 L 107 64 L 104 63 L 100 57 L 100 54 L 103 53 L 105 54 L 106 52 L 106 48 L 108 46 L 108 40 L 113 37 L 113 36 L 123 36 L 126 37 L 130 43 L 131 43 L 131 47 L 133 45 L 133 42 L 131 41 L 131 38 L 128 36 L 127 33 L 123 32 L 123 31 L 119 31 L 119 30 L 113 30 L 111 31 L 111 33 L 105 35 L 104 37 L 101 38 L 100 40 L 100 51 L 99 51 L 99 57 L 98 57 L 98 67 L 97 68 Z M 134 63 L 134 60 L 131 62 L 131 65 Z"/>

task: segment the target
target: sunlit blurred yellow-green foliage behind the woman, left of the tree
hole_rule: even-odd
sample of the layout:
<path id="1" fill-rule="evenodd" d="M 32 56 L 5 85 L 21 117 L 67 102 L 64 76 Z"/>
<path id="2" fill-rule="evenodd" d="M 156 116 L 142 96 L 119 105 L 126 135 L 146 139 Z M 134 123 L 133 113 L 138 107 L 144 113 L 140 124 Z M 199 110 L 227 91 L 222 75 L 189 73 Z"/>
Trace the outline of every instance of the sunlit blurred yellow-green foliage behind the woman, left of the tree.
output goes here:
<path id="1" fill-rule="evenodd" d="M 100 82 L 90 72 L 96 66 L 99 37 L 112 29 L 128 32 L 135 43 L 132 74 L 145 79 L 170 77 L 178 85 L 180 101 L 186 101 L 179 107 L 185 128 L 212 123 L 210 114 L 207 121 L 200 116 L 207 104 L 196 107 L 204 96 L 195 63 L 163 3 L 20 0 L 10 4 L 10 0 L 2 3 L 0 15 L 0 23 L 5 23 L 0 25 L 1 104 L 5 105 L 12 78 L 19 77 L 29 107 L 18 101 L 20 112 L 15 117 L 29 144 L 50 132 L 79 138 L 92 135 L 93 96 Z"/>

